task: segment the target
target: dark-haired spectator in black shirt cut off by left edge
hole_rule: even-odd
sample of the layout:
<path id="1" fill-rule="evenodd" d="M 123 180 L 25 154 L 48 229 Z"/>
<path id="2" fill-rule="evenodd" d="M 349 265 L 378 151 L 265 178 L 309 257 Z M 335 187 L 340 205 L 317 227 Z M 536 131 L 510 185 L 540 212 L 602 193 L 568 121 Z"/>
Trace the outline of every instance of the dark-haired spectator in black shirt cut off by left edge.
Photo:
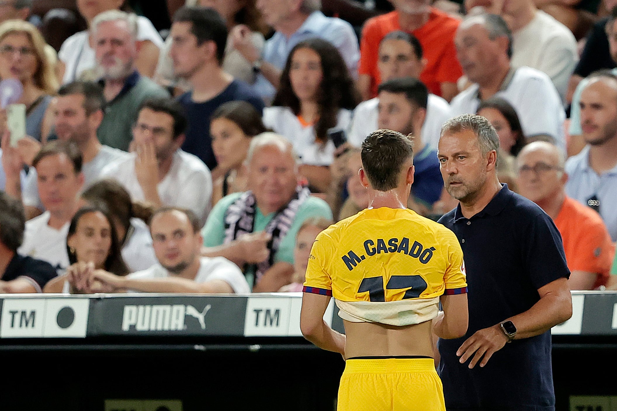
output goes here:
<path id="1" fill-rule="evenodd" d="M 0 293 L 40 293 L 56 277 L 48 262 L 23 256 L 17 248 L 23 240 L 25 218 L 19 200 L 0 191 Z"/>

